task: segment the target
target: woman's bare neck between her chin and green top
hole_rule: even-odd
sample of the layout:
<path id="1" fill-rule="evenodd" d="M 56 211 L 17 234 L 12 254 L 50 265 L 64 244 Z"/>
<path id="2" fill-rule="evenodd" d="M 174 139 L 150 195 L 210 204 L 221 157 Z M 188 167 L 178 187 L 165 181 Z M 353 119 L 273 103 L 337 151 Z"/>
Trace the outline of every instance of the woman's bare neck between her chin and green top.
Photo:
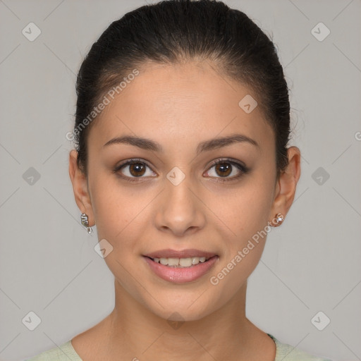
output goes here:
<path id="1" fill-rule="evenodd" d="M 118 355 L 124 355 L 124 360 L 157 360 L 159 355 L 174 361 L 253 360 L 259 345 L 274 346 L 271 338 L 245 317 L 246 288 L 247 283 L 207 317 L 171 322 L 134 300 L 115 280 L 115 307 L 104 319 L 99 341 L 104 349 L 112 350 L 109 360 Z"/>

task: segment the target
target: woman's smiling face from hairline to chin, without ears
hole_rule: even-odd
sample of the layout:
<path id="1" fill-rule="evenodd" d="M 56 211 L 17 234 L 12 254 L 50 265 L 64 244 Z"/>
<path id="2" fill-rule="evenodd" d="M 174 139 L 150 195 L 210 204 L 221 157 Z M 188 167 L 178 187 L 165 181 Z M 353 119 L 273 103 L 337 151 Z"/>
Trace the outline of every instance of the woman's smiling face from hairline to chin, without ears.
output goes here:
<path id="1" fill-rule="evenodd" d="M 116 287 L 165 319 L 200 319 L 239 295 L 282 211 L 274 133 L 252 99 L 240 107 L 249 94 L 206 63 L 148 65 L 88 135 L 83 211 L 113 247 Z"/>

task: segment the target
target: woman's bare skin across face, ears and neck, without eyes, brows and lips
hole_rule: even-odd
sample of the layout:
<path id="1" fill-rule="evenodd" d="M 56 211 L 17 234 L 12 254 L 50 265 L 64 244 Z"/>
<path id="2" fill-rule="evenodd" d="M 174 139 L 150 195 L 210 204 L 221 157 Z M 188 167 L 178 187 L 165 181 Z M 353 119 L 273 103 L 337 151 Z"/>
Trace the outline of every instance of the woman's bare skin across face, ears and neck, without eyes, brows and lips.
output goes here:
<path id="1" fill-rule="evenodd" d="M 289 165 L 277 178 L 274 133 L 259 106 L 250 114 L 240 109 L 246 94 L 257 99 L 208 62 L 147 64 L 92 124 L 87 176 L 71 151 L 75 201 L 90 226 L 97 224 L 98 239 L 113 247 L 104 261 L 114 274 L 116 295 L 113 312 L 73 338 L 83 360 L 119 360 L 119 355 L 141 361 L 274 360 L 274 341 L 245 315 L 247 278 L 266 237 L 216 286 L 209 281 L 276 214 L 286 217 L 300 178 L 297 147 L 288 148 Z M 233 133 L 247 135 L 259 147 L 235 142 L 196 154 L 200 142 Z M 126 144 L 104 147 L 121 135 L 154 140 L 164 152 Z M 135 178 L 139 173 L 130 173 L 130 166 L 118 171 L 133 176 L 133 183 L 112 172 L 131 158 L 149 166 L 142 178 Z M 243 162 L 250 171 L 232 165 L 228 179 L 239 173 L 240 178 L 223 181 L 211 165 L 220 158 Z M 185 175 L 179 185 L 166 178 L 174 166 Z M 164 248 L 196 248 L 219 259 L 200 279 L 171 283 L 142 257 Z M 174 329 L 169 319 L 184 323 Z"/>

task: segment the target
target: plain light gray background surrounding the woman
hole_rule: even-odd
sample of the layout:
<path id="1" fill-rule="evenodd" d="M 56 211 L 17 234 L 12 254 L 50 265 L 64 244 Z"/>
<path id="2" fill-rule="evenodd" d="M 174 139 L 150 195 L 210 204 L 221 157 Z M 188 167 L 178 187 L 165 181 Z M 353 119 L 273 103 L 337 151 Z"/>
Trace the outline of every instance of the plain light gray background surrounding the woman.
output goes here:
<path id="1" fill-rule="evenodd" d="M 293 207 L 250 276 L 247 316 L 307 352 L 361 360 L 361 1 L 225 2 L 276 42 L 290 86 L 290 145 L 302 152 Z M 68 341 L 114 307 L 97 235 L 79 223 L 66 133 L 83 57 L 111 21 L 142 4 L 0 0 L 0 360 Z M 30 22 L 41 30 L 33 42 L 22 33 Z M 319 22 L 331 31 L 323 41 L 311 31 Z M 42 320 L 34 331 L 22 322 L 30 311 Z M 319 311 L 331 319 L 323 331 L 311 322 Z"/>

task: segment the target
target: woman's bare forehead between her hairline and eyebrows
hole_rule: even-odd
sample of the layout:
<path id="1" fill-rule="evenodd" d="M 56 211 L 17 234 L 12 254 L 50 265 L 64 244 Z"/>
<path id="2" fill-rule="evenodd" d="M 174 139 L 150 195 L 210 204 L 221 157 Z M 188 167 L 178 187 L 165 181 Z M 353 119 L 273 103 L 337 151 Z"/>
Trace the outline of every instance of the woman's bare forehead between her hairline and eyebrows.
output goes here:
<path id="1" fill-rule="evenodd" d="M 147 64 L 109 100 L 89 135 L 98 145 L 123 133 L 152 138 L 164 147 L 231 133 L 243 133 L 261 147 L 273 142 L 255 106 L 257 94 L 208 62 Z"/>

